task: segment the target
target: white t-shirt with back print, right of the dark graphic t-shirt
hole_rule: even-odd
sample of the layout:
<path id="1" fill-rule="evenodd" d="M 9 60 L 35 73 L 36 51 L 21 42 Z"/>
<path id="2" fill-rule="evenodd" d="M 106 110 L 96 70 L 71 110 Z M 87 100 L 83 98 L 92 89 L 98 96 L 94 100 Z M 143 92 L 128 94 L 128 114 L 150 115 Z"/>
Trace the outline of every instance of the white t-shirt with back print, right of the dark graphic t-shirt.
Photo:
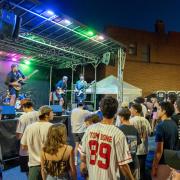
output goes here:
<path id="1" fill-rule="evenodd" d="M 151 133 L 151 125 L 147 119 L 141 116 L 134 116 L 130 123 L 138 130 L 142 143 L 137 147 L 137 155 L 148 153 L 148 136 Z"/>

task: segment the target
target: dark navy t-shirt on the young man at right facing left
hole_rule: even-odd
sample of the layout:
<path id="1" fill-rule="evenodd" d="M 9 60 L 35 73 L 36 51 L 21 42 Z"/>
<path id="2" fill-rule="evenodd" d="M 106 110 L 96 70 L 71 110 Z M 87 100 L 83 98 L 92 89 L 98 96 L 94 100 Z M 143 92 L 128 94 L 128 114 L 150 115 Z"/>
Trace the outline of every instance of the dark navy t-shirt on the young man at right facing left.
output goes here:
<path id="1" fill-rule="evenodd" d="M 173 120 L 164 120 L 157 125 L 155 141 L 164 143 L 163 150 L 176 149 L 178 141 L 178 129 L 177 125 L 174 123 Z M 165 164 L 164 152 L 162 154 L 159 164 Z"/>

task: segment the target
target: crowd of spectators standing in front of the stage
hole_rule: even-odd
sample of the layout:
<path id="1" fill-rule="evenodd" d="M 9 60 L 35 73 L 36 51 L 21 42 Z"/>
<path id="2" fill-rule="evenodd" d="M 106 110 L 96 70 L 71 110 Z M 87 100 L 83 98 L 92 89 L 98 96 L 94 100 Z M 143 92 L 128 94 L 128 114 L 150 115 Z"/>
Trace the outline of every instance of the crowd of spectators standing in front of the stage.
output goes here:
<path id="1" fill-rule="evenodd" d="M 51 123 L 49 106 L 35 111 L 25 100 L 22 110 L 16 135 L 20 169 L 29 180 L 75 180 L 78 168 L 90 180 L 180 179 L 180 99 L 175 96 L 159 102 L 152 94 L 121 104 L 105 96 L 96 112 L 80 102 L 70 117 L 73 140 L 64 124 Z M 155 137 L 151 159 L 150 137 Z"/>

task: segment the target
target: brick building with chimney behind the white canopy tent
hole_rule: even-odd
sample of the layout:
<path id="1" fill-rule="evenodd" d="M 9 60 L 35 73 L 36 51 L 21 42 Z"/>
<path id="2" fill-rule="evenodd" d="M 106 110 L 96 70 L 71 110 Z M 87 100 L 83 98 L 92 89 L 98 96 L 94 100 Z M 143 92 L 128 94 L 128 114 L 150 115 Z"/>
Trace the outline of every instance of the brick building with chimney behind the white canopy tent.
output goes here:
<path id="1" fill-rule="evenodd" d="M 162 21 L 155 32 L 108 27 L 107 34 L 127 46 L 124 80 L 148 95 L 157 90 L 180 91 L 180 32 L 166 32 Z M 116 75 L 117 66 L 101 67 L 101 74 Z"/>

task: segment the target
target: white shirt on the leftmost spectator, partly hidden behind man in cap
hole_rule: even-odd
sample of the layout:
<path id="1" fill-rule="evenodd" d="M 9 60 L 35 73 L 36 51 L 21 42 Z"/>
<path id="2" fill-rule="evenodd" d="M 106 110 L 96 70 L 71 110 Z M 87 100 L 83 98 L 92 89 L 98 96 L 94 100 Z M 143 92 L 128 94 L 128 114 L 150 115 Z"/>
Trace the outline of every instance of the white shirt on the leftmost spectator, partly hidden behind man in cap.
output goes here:
<path id="1" fill-rule="evenodd" d="M 31 112 L 24 113 L 19 118 L 19 122 L 18 122 L 18 125 L 16 128 L 16 133 L 23 134 L 28 125 L 30 125 L 38 120 L 39 120 L 39 112 L 38 111 L 31 111 Z M 28 156 L 28 152 L 26 150 L 22 150 L 20 147 L 19 155 L 20 156 Z"/>

